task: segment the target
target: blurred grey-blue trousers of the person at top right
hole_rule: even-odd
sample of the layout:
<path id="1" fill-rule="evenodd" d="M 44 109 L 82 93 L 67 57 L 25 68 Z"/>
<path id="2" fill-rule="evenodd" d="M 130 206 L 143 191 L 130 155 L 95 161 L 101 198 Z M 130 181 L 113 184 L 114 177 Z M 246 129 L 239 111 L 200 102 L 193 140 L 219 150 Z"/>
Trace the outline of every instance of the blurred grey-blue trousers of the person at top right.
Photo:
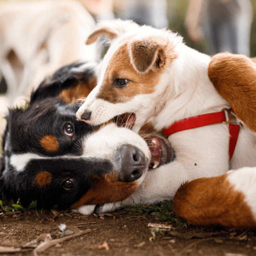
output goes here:
<path id="1" fill-rule="evenodd" d="M 208 4 L 208 38 L 214 45 L 210 54 L 228 51 L 250 56 L 250 0 L 210 0 Z"/>

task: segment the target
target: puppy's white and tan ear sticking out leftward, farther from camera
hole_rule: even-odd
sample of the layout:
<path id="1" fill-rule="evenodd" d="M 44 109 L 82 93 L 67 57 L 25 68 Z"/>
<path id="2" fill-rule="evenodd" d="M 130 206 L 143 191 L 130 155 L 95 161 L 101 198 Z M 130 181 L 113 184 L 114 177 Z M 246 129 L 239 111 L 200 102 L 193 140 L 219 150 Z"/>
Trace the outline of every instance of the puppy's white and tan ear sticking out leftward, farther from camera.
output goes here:
<path id="1" fill-rule="evenodd" d="M 115 19 L 98 22 L 94 31 L 88 36 L 86 44 L 94 43 L 103 35 L 106 35 L 107 39 L 112 40 L 135 27 L 138 28 L 139 25 L 131 20 Z"/>

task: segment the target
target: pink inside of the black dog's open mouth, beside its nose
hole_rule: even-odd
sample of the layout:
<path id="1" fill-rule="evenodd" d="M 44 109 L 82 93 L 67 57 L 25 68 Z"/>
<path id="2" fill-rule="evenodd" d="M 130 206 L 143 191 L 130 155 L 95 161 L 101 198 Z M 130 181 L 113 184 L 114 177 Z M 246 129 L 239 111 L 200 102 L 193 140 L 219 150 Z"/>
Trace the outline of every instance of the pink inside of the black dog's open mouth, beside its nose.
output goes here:
<path id="1" fill-rule="evenodd" d="M 162 154 L 162 145 L 163 142 L 158 137 L 150 137 L 149 143 L 149 149 L 151 151 L 151 162 L 149 164 L 149 168 L 155 169 L 158 167 L 161 163 L 161 154 Z"/>

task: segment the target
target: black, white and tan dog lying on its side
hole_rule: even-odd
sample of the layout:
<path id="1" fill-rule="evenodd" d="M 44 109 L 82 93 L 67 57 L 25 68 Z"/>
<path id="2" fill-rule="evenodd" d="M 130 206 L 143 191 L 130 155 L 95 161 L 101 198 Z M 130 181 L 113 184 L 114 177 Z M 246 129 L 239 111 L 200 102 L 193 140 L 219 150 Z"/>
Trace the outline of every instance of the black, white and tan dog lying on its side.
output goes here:
<path id="1" fill-rule="evenodd" d="M 25 207 L 37 200 L 39 208 L 58 204 L 90 214 L 96 205 L 120 202 L 140 186 L 150 163 L 145 140 L 114 122 L 95 127 L 76 118 L 77 99 L 95 84 L 94 64 L 66 66 L 40 84 L 28 108 L 9 111 L 0 199 L 20 198 Z M 148 140 L 156 166 L 173 157 L 164 140 Z"/>

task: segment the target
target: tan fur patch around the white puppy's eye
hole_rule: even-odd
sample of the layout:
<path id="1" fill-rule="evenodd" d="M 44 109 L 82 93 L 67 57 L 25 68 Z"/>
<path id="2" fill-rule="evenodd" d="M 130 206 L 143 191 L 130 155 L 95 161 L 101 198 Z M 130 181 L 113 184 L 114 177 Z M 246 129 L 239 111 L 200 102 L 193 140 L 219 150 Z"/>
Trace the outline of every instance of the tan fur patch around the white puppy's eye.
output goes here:
<path id="1" fill-rule="evenodd" d="M 162 69 L 157 69 L 149 70 L 146 74 L 138 74 L 130 63 L 128 46 L 124 44 L 114 53 L 109 62 L 97 98 L 119 103 L 126 102 L 138 94 L 150 94 L 154 92 L 162 72 Z M 116 88 L 114 87 L 116 78 L 125 78 L 129 82 L 122 88 Z"/>

